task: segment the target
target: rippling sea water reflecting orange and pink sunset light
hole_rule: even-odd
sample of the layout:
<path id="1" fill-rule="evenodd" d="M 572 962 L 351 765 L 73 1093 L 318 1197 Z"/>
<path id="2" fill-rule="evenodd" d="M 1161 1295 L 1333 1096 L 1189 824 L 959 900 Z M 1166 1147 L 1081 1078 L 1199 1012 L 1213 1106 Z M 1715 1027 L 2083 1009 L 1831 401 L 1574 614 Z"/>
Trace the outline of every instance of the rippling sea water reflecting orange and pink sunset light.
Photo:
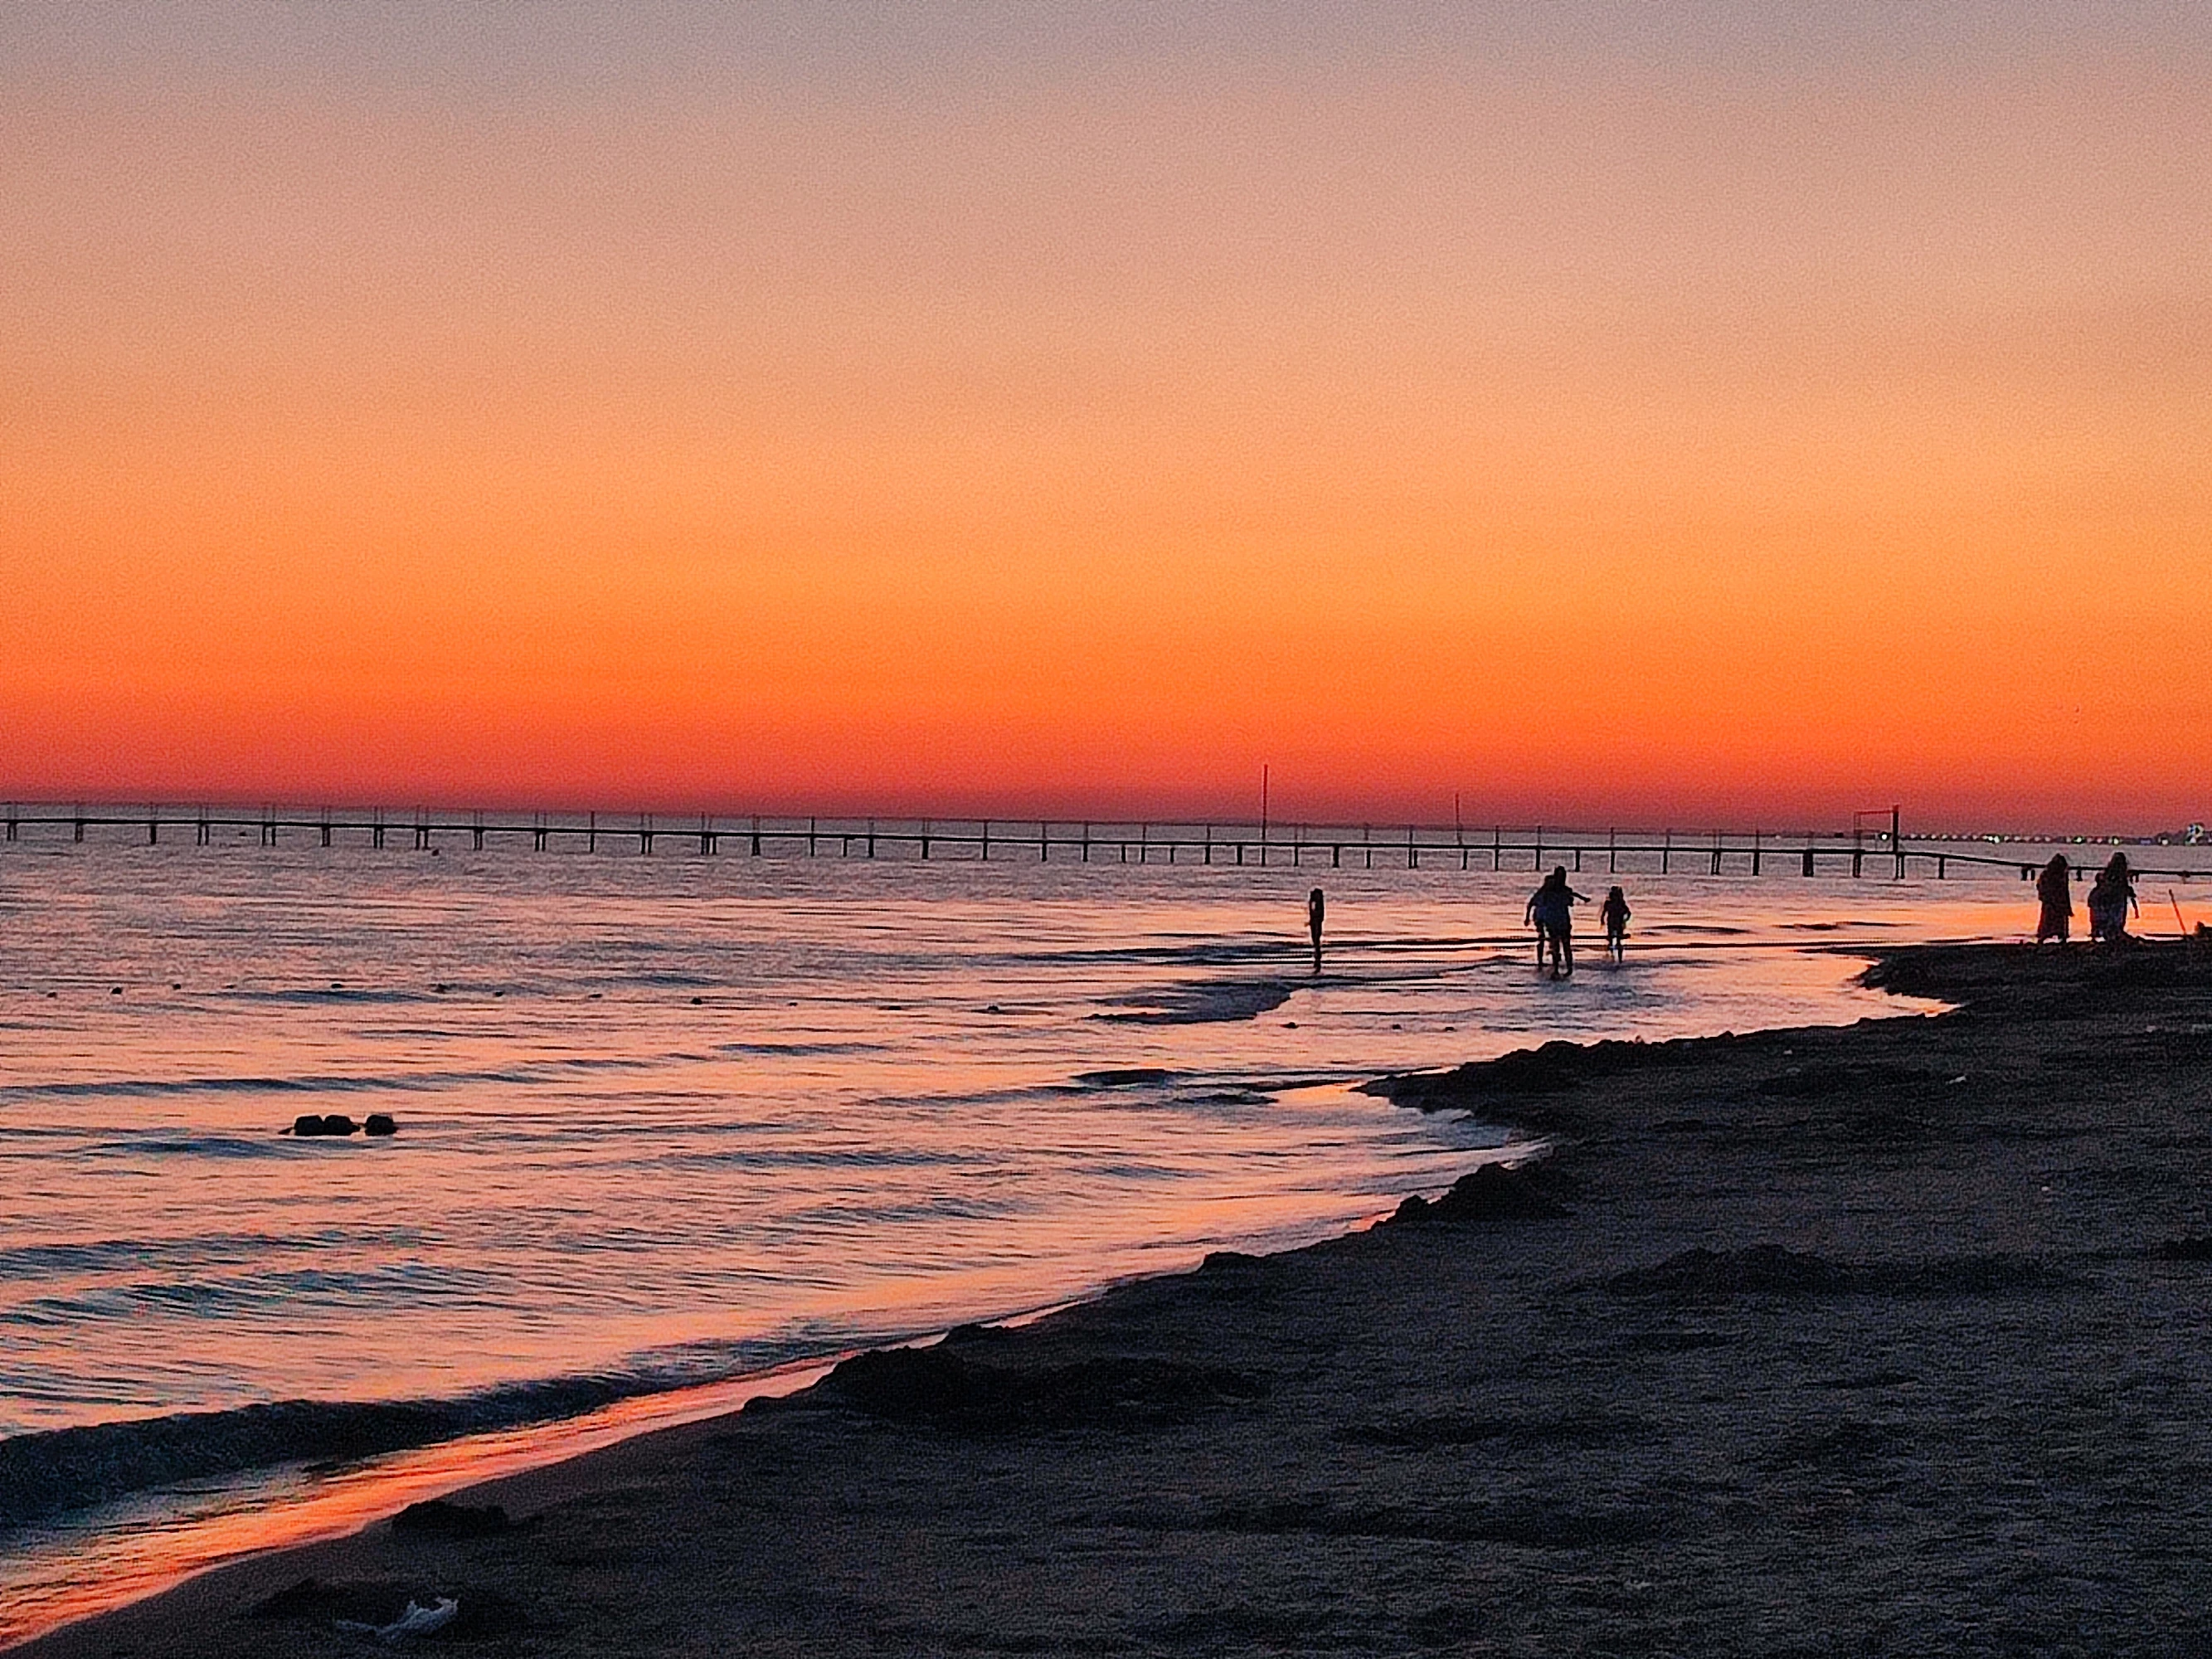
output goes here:
<path id="1" fill-rule="evenodd" d="M 1385 1073 L 1913 1011 L 1867 953 L 2035 922 L 1593 847 L 1628 956 L 1555 982 L 1482 860 L 398 843 L 0 847 L 0 1646 L 1531 1150 Z"/>

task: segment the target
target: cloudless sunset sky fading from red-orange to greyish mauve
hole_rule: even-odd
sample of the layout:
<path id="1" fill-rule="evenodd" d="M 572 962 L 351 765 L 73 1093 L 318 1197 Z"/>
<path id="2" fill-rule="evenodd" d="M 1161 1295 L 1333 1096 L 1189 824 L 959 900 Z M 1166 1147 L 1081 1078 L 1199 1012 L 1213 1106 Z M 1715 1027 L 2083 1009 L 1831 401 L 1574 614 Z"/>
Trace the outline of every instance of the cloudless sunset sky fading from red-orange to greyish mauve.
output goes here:
<path id="1" fill-rule="evenodd" d="M 2212 816 L 2212 7 L 0 4 L 0 796 Z"/>

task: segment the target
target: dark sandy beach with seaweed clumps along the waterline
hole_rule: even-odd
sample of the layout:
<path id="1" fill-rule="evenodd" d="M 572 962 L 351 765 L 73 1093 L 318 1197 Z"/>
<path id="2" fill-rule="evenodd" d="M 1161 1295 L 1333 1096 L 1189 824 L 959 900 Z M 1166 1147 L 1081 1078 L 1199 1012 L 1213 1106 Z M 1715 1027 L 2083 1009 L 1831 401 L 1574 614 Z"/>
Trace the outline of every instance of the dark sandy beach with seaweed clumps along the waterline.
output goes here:
<path id="1" fill-rule="evenodd" d="M 27 1652 L 2212 1650 L 2212 958 L 1876 973 L 1964 1009 L 1407 1079 L 1557 1150 Z"/>

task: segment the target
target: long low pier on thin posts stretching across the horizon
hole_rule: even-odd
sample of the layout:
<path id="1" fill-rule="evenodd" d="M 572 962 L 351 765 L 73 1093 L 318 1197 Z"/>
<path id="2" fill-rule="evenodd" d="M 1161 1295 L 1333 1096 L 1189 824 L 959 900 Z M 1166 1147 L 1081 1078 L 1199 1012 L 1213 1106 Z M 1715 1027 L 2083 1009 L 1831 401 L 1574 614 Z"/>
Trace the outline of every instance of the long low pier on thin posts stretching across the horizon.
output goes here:
<path id="1" fill-rule="evenodd" d="M 462 845 L 484 852 L 493 843 L 529 845 L 533 852 L 635 852 L 677 849 L 703 858 L 737 854 L 750 858 L 916 858 L 916 860 L 1077 860 L 1119 865 L 1230 865 L 1316 869 L 1526 869 L 1566 865 L 1575 874 L 1796 874 L 1796 876 L 1951 876 L 2017 872 L 2028 880 L 2051 847 L 2075 854 L 2075 874 L 2119 843 L 2020 843 L 2033 854 L 2006 852 L 2006 843 L 1907 838 L 1889 814 L 1880 830 L 1827 830 L 1770 834 L 1679 832 L 1679 830 L 1575 830 L 1491 825 L 1347 825 L 1347 823 L 1159 823 L 1159 821 L 1040 821 L 1040 818 L 823 818 L 823 816 L 728 816 L 728 814 L 602 814 L 602 812 L 451 812 L 418 810 L 288 810 L 288 807 L 175 807 L 175 805 L 4 805 L 0 832 L 18 841 L 102 841 L 128 836 L 144 845 L 190 838 L 208 847 L 217 841 L 252 838 L 261 847 L 307 843 L 321 847 L 369 845 L 436 852 Z M 2179 852 L 2157 847 L 2157 852 Z M 2132 863 L 2132 858 L 2130 858 Z M 2203 865 L 2137 867 L 2139 876 L 2192 880 L 2212 876 L 2212 852 Z"/>

